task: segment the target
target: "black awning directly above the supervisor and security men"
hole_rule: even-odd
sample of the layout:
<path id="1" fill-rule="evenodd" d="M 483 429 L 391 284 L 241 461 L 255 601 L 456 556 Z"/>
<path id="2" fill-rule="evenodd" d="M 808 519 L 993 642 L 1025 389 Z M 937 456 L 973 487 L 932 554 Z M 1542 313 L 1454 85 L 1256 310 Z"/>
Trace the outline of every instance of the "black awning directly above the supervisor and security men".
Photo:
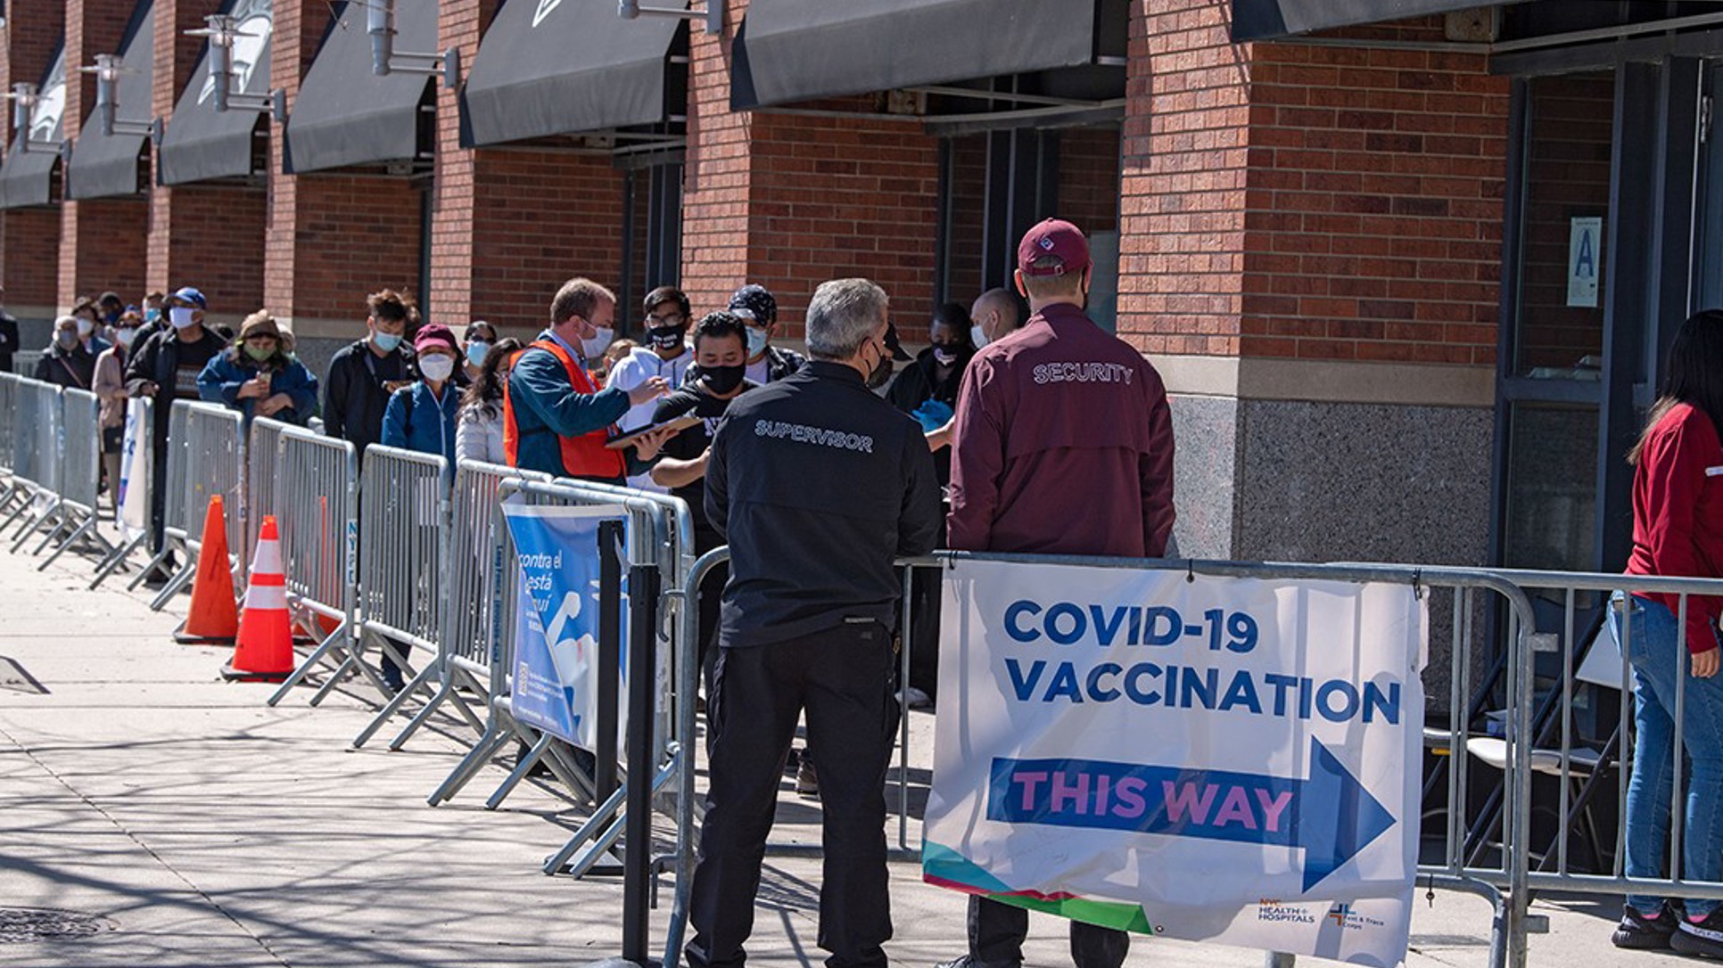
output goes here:
<path id="1" fill-rule="evenodd" d="M 751 0 L 731 107 L 1094 64 L 1099 22 L 1070 0 Z"/>

